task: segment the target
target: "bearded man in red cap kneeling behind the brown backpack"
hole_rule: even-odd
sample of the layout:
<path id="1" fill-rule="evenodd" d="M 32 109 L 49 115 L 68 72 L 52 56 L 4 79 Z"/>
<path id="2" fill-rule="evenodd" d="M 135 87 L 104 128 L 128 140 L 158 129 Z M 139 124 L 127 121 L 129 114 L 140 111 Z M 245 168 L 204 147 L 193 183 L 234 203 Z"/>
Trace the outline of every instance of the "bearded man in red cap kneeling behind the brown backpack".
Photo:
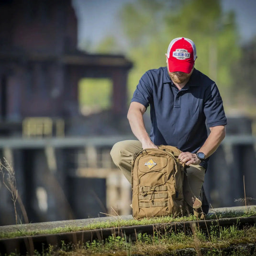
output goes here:
<path id="1" fill-rule="evenodd" d="M 132 159 L 145 148 L 177 146 L 186 163 L 184 198 L 197 209 L 209 156 L 225 137 L 223 101 L 214 81 L 194 68 L 196 46 L 188 38 L 169 44 L 167 67 L 147 71 L 139 81 L 127 114 L 136 140 L 116 143 L 113 162 L 131 182 Z M 143 114 L 150 106 L 152 129 L 146 132 Z M 207 126 L 210 128 L 208 136 Z"/>

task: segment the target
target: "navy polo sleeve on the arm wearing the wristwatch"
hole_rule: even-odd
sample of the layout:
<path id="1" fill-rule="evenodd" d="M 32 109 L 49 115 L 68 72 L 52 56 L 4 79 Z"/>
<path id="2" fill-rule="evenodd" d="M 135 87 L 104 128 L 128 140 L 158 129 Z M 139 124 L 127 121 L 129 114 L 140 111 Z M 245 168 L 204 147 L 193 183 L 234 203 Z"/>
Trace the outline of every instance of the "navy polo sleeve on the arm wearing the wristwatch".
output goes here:
<path id="1" fill-rule="evenodd" d="M 209 127 L 227 124 L 223 100 L 215 83 L 211 84 L 211 86 L 206 89 L 204 114 Z"/>

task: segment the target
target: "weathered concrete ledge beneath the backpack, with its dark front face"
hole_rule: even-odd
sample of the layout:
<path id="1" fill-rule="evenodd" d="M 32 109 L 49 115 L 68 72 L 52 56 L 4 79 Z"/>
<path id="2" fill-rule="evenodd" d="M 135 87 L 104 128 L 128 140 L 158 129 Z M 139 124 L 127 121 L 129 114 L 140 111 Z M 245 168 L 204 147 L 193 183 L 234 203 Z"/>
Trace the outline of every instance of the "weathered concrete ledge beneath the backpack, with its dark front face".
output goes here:
<path id="1" fill-rule="evenodd" d="M 230 208 L 218 208 L 212 209 L 214 212 L 229 212 L 229 211 L 239 211 L 245 212 L 246 210 L 256 209 L 256 206 L 250 207 L 230 207 Z M 69 220 L 69 221 L 57 221 L 57 222 L 46 222 L 46 223 L 29 223 L 29 224 L 19 224 L 19 225 L 9 225 L 1 226 L 0 232 L 15 232 L 15 231 L 37 231 L 37 230 L 47 230 L 58 227 L 67 226 L 78 226 L 84 227 L 89 223 L 95 222 L 111 222 L 114 220 L 130 220 L 133 219 L 132 215 L 117 216 L 117 217 L 102 217 L 94 219 L 83 219 L 83 220 Z M 239 220 L 239 221 L 238 221 Z M 81 230 L 76 232 L 66 232 L 57 234 L 38 234 L 31 236 L 20 236 L 14 238 L 2 238 L 0 239 L 0 254 L 9 255 L 11 253 L 20 255 L 33 255 L 34 250 L 37 252 L 44 251 L 49 245 L 55 245 L 57 247 L 61 246 L 62 243 L 73 243 L 77 245 L 78 243 L 91 242 L 95 239 L 102 240 L 106 239 L 110 235 L 119 235 L 129 237 L 129 241 L 135 241 L 137 234 L 153 234 L 157 229 L 160 233 L 166 232 L 191 232 L 194 226 L 199 226 L 203 232 L 206 232 L 211 225 L 219 225 L 223 227 L 229 227 L 231 225 L 238 225 L 238 228 L 243 228 L 244 226 L 252 226 L 256 223 L 256 216 L 252 217 L 239 217 L 239 218 L 222 218 L 219 220 L 199 220 L 199 221 L 188 221 L 188 222 L 175 222 L 175 223 L 156 223 L 148 225 L 136 225 L 136 226 L 125 226 L 125 227 L 112 227 L 112 228 L 101 228 L 94 230 Z"/>

